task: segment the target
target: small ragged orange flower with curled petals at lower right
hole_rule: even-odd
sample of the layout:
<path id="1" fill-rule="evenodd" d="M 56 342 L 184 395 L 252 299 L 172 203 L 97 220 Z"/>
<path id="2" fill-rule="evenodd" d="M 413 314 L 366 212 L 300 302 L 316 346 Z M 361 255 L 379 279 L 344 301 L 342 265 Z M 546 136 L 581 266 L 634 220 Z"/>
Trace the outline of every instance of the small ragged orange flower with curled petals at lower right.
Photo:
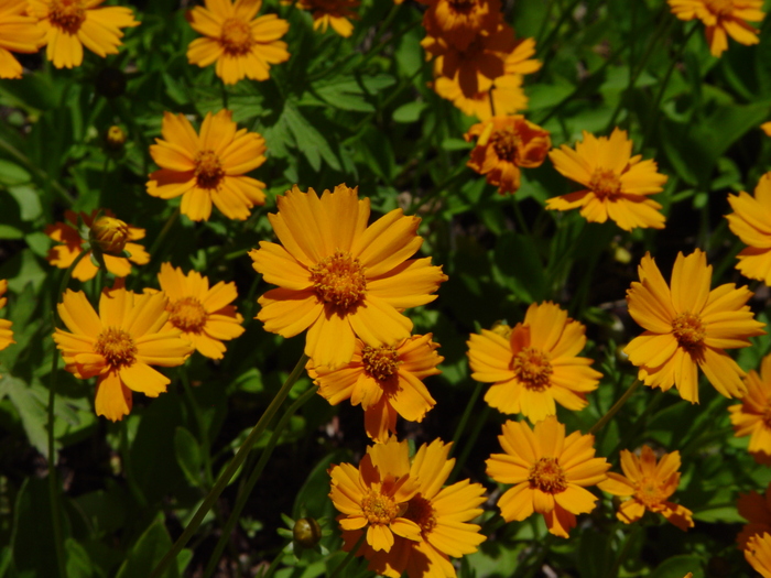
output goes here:
<path id="1" fill-rule="evenodd" d="M 642 446 L 640 457 L 622 449 L 621 469 L 623 476 L 609 471 L 608 479 L 597 484 L 604 492 L 630 498 L 616 513 L 621 522 L 631 524 L 649 511 L 662 514 L 680 530 L 694 526 L 691 510 L 669 501 L 680 484 L 680 451 L 664 454 L 656 464 L 648 446 Z"/>

